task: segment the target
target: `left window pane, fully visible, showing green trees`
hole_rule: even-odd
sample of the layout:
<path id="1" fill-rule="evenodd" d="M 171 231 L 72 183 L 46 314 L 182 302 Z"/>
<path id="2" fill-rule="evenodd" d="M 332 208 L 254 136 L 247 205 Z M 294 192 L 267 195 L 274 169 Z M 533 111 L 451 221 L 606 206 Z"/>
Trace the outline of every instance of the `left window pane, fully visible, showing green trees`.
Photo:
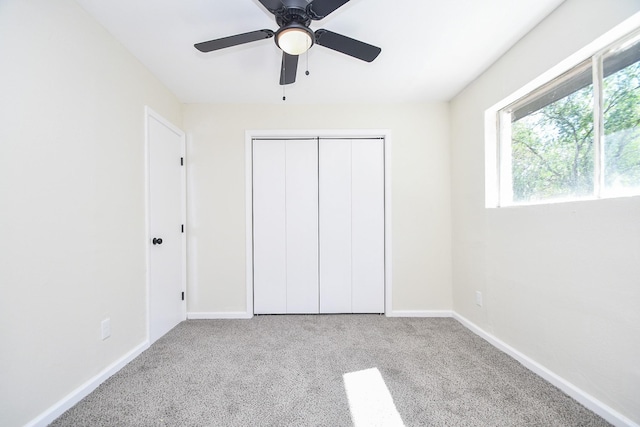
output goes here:
<path id="1" fill-rule="evenodd" d="M 574 70 L 517 106 L 511 119 L 514 203 L 593 193 L 590 65 Z"/>

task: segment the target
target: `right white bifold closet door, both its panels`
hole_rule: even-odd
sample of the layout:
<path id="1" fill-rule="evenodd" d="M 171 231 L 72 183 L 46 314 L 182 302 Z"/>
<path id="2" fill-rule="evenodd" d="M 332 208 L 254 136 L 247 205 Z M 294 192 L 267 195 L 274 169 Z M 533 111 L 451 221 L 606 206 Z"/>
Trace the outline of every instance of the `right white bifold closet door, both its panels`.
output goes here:
<path id="1" fill-rule="evenodd" d="M 320 312 L 384 312 L 384 145 L 319 145 Z"/>

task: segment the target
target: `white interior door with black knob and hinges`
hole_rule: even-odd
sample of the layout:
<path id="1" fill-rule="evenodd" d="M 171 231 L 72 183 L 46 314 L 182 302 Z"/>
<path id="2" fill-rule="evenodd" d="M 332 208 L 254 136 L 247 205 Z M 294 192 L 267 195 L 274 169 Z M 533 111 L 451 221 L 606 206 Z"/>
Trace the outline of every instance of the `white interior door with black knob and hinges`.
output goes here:
<path id="1" fill-rule="evenodd" d="M 149 340 L 186 318 L 184 133 L 147 111 Z"/>

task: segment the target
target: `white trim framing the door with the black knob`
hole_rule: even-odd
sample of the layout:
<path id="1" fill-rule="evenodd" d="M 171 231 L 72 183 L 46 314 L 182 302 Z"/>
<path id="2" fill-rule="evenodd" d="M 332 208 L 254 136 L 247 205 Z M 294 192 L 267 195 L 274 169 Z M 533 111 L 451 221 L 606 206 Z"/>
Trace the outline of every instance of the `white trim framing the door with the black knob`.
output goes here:
<path id="1" fill-rule="evenodd" d="M 150 230 L 150 221 L 149 221 L 149 216 L 151 214 L 151 204 L 150 204 L 150 197 L 151 197 L 151 191 L 150 191 L 150 186 L 151 186 L 151 168 L 150 168 L 150 157 L 149 157 L 149 153 L 150 153 L 150 146 L 149 146 L 149 123 L 150 120 L 149 119 L 154 119 L 158 122 L 160 122 L 163 126 L 166 126 L 170 131 L 172 131 L 173 133 L 175 133 L 176 135 L 178 135 L 180 137 L 180 146 L 181 146 L 181 156 L 184 159 L 184 166 L 182 167 L 182 172 L 181 172 L 181 187 L 182 187 L 182 200 L 181 200 L 181 216 L 182 216 L 182 223 L 184 224 L 184 233 L 182 233 L 182 239 L 181 239 L 181 244 L 182 244 L 182 260 L 181 260 L 181 264 L 182 264 L 182 273 L 181 273 L 181 288 L 182 288 L 182 292 L 185 293 L 185 299 L 182 302 L 182 308 L 181 308 L 181 314 L 180 314 L 180 318 L 182 320 L 186 320 L 187 319 L 187 297 L 186 297 L 186 292 L 187 292 L 187 156 L 186 156 L 186 134 L 185 132 L 178 128 L 177 126 L 175 126 L 173 123 L 171 123 L 170 121 L 168 121 L 167 119 L 165 119 L 164 117 L 162 117 L 160 114 L 158 114 L 157 112 L 155 112 L 153 109 L 151 109 L 151 107 L 149 107 L 148 105 L 145 105 L 144 107 L 144 163 L 145 163 L 145 240 L 144 240 L 144 250 L 145 250 L 145 281 L 146 281 L 146 292 L 145 292 L 145 309 L 146 309 L 146 316 L 145 316 L 145 320 L 146 320 L 146 342 L 151 345 L 153 344 L 151 342 L 151 301 L 150 301 L 150 291 L 151 291 L 151 274 L 150 274 L 150 256 L 149 256 L 149 250 L 150 250 L 150 245 L 149 242 L 151 241 L 151 230 Z"/>

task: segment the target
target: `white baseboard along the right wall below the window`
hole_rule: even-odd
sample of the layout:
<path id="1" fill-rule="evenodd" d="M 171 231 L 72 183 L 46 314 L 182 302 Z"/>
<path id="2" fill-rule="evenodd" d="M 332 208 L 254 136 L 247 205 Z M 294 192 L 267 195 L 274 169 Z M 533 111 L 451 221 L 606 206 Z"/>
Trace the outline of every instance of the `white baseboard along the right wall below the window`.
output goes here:
<path id="1" fill-rule="evenodd" d="M 471 321 L 459 315 L 455 311 L 453 312 L 453 318 L 456 319 L 458 322 L 462 323 L 467 329 L 471 330 L 476 335 L 479 335 L 481 338 L 488 341 L 494 347 L 507 353 L 509 356 L 516 359 L 527 369 L 541 376 L 542 378 L 544 378 L 554 386 L 558 387 L 560 390 L 562 390 L 563 392 L 571 396 L 573 399 L 577 400 L 584 407 L 586 407 L 592 412 L 595 412 L 596 414 L 598 414 L 599 416 L 601 416 L 602 418 L 604 418 L 614 426 L 640 427 L 640 425 L 636 424 L 629 418 L 625 417 L 615 409 L 611 408 L 610 406 L 599 401 L 598 399 L 591 396 L 590 394 L 579 389 L 578 387 L 571 384 L 569 381 L 565 380 L 559 375 L 551 372 L 549 369 L 545 368 L 535 360 L 529 358 L 528 356 L 524 355 L 523 353 L 519 352 L 515 348 L 505 343 L 504 341 L 501 341 L 500 339 L 486 332 L 484 329 L 481 329 L 475 323 L 472 323 Z"/>

